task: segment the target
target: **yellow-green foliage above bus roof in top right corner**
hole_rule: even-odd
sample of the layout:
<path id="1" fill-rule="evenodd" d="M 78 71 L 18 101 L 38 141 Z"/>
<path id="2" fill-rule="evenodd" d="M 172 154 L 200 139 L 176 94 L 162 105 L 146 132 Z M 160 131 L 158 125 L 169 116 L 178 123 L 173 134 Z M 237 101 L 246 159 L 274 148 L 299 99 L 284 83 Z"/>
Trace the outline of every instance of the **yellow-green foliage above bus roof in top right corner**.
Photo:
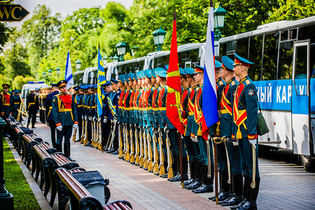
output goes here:
<path id="1" fill-rule="evenodd" d="M 278 0 L 279 6 L 269 12 L 265 23 L 279 20 L 299 20 L 315 15 L 314 0 Z"/>

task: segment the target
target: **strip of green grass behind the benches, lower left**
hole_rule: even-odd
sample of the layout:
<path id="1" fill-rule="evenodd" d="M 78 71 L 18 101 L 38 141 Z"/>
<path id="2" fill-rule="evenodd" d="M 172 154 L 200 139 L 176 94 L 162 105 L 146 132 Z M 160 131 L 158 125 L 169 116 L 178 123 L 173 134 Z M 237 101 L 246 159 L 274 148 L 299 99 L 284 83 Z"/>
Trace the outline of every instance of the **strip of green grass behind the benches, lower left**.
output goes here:
<path id="1" fill-rule="evenodd" d="M 41 209 L 29 187 L 22 169 L 15 161 L 13 153 L 10 151 L 8 143 L 3 139 L 3 165 L 5 187 L 9 193 L 12 193 L 14 200 L 14 209 Z"/>

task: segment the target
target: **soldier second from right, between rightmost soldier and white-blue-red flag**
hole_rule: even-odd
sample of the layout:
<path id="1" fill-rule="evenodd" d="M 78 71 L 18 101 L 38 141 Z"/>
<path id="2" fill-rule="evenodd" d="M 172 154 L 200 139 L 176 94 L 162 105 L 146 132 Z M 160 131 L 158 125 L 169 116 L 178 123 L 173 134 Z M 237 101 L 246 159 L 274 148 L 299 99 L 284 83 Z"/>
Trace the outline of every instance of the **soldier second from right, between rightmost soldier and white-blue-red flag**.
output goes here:
<path id="1" fill-rule="evenodd" d="M 227 56 L 222 57 L 222 66 L 221 66 L 221 76 L 225 80 L 226 85 L 223 89 L 223 92 L 219 94 L 218 102 L 220 103 L 220 127 L 221 127 L 221 136 L 223 137 L 232 137 L 232 107 L 233 100 L 235 95 L 235 90 L 239 84 L 235 78 L 235 72 L 233 71 L 234 61 Z M 223 206 L 232 206 L 237 205 L 241 202 L 243 195 L 243 177 L 241 171 L 241 155 L 239 154 L 239 147 L 237 144 L 232 142 L 225 142 L 218 145 L 218 155 L 219 159 L 224 159 L 226 161 L 226 152 L 225 145 L 228 150 L 228 158 L 230 163 L 230 189 L 228 189 L 228 165 L 223 165 L 222 167 L 222 184 L 221 193 L 218 197 L 219 201 L 223 201 L 230 192 L 230 197 L 225 200 Z M 224 148 L 222 148 L 224 146 Z M 223 155 L 224 154 L 224 155 Z"/>

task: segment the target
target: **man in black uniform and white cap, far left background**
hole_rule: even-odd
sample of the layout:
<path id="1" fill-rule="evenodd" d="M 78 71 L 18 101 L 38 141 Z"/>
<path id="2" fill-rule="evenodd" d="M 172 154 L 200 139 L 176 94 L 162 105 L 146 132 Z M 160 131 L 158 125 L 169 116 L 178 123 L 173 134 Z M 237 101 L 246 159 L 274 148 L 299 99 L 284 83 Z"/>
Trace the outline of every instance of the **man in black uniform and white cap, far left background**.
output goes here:
<path id="1" fill-rule="evenodd" d="M 29 89 L 31 92 L 30 94 L 27 95 L 27 112 L 29 114 L 29 119 L 27 120 L 27 127 L 29 127 L 29 123 L 31 122 L 31 128 L 36 128 L 35 123 L 36 123 L 36 113 L 38 111 L 38 99 L 36 94 L 34 94 L 34 87 L 31 87 Z"/>

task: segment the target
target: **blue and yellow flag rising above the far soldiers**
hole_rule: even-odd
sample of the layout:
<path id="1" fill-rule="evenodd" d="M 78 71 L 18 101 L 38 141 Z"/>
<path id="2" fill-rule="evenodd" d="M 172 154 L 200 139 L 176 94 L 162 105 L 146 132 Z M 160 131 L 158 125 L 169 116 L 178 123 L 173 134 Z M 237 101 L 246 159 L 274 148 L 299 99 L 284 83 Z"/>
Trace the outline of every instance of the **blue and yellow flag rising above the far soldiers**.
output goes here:
<path id="1" fill-rule="evenodd" d="M 106 83 L 105 71 L 103 66 L 103 60 L 101 52 L 98 56 L 98 68 L 97 68 L 97 116 L 102 116 L 103 113 L 103 99 L 105 92 L 101 87 L 102 84 Z"/>

